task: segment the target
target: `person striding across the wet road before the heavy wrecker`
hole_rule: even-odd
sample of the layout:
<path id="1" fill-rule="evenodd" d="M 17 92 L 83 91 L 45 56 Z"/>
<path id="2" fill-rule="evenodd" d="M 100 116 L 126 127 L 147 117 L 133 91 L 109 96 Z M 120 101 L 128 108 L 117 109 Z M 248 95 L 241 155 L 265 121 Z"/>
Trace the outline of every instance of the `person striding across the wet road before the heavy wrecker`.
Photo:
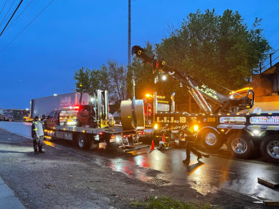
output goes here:
<path id="1" fill-rule="evenodd" d="M 196 144 L 196 134 L 193 127 L 190 127 L 188 130 L 184 131 L 182 134 L 185 135 L 193 135 L 193 137 L 185 137 L 186 139 L 186 159 L 183 160 L 184 163 L 190 162 L 190 153 L 193 152 L 197 156 L 197 160 L 202 158 L 202 154 L 194 147 Z M 183 137 L 183 136 L 182 136 Z"/>

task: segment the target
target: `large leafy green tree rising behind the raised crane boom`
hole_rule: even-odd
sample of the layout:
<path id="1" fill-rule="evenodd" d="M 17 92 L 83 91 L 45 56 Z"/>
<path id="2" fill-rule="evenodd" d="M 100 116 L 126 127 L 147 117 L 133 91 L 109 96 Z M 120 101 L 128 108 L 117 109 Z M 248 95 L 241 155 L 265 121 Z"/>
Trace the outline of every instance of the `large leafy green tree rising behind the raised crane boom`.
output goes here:
<path id="1" fill-rule="evenodd" d="M 217 91 L 224 91 L 220 86 L 241 88 L 270 49 L 260 21 L 256 19 L 249 30 L 238 12 L 216 15 L 215 10 L 197 10 L 156 45 L 156 54 Z"/>

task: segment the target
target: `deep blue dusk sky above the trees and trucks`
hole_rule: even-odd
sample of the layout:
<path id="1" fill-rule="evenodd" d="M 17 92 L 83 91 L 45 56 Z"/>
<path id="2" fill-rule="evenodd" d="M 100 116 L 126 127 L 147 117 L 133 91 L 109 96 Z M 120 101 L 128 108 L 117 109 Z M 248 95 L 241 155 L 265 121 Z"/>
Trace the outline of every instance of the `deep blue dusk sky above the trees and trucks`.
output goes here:
<path id="1" fill-rule="evenodd" d="M 0 0 L 0 23 L 13 1 Z M 0 108 L 30 108 L 32 98 L 73 92 L 74 72 L 82 67 L 99 69 L 107 60 L 127 65 L 128 0 L 31 1 L 22 2 L 13 20 L 31 4 L 0 37 Z M 18 3 L 15 0 L 10 12 Z M 226 9 L 239 11 L 249 27 L 255 17 L 262 18 L 264 35 L 271 47 L 279 48 L 276 0 L 132 0 L 131 4 L 132 46 L 158 43 L 168 35 L 169 24 L 179 27 L 189 13 L 215 8 L 219 15 Z M 6 22 L 0 24 L 0 32 Z"/>

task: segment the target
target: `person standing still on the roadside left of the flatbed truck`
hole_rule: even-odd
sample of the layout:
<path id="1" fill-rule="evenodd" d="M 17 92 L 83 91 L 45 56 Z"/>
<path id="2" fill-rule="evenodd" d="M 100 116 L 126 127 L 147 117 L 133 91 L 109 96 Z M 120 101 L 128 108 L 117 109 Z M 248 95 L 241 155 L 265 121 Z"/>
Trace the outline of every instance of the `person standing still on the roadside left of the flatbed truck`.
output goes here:
<path id="1" fill-rule="evenodd" d="M 44 131 L 43 131 L 43 125 L 40 123 L 40 119 L 38 116 L 34 118 L 34 121 L 32 123 L 32 138 L 33 138 L 33 148 L 34 153 L 45 153 L 43 151 L 43 137 L 44 137 Z"/>

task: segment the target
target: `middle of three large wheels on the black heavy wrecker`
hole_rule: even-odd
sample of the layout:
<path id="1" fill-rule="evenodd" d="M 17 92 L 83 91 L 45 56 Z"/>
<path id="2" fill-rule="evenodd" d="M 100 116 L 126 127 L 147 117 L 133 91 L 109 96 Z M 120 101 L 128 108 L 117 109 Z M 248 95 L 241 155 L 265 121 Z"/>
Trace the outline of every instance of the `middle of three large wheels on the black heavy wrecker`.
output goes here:
<path id="1" fill-rule="evenodd" d="M 247 159 L 254 153 L 254 144 L 248 134 L 234 133 L 227 139 L 229 155 Z"/>

